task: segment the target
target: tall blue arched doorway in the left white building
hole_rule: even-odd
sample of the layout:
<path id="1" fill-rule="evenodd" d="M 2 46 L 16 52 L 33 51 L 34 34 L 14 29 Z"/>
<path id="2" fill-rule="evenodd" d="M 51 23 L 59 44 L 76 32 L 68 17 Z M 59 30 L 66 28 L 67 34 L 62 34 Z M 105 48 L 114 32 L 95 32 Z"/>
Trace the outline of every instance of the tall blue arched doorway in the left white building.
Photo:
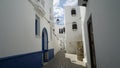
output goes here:
<path id="1" fill-rule="evenodd" d="M 48 33 L 46 28 L 42 30 L 42 52 L 43 52 L 43 62 L 48 61 Z"/>

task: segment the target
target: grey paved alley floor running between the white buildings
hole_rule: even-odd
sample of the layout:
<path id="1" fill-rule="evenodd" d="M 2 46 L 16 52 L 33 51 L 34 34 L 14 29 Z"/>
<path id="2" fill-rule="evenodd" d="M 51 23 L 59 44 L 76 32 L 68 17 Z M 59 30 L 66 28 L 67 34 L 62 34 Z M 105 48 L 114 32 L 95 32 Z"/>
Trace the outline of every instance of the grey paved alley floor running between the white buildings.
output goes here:
<path id="1" fill-rule="evenodd" d="M 56 54 L 54 59 L 46 63 L 43 68 L 85 68 L 85 67 L 72 63 L 69 58 L 65 57 L 65 51 L 61 50 Z"/>

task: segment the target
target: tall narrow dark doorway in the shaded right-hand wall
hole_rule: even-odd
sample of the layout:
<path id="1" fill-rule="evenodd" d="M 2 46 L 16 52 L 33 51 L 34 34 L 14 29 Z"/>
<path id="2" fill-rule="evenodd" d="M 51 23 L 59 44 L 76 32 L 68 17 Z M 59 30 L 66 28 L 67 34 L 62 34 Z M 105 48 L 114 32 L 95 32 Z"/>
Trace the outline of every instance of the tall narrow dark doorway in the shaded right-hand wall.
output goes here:
<path id="1" fill-rule="evenodd" d="M 90 18 L 88 19 L 87 27 L 88 27 L 91 68 L 96 68 L 96 56 L 95 56 L 95 45 L 94 45 L 94 33 L 93 33 L 93 25 L 92 25 L 92 16 L 90 16 Z"/>

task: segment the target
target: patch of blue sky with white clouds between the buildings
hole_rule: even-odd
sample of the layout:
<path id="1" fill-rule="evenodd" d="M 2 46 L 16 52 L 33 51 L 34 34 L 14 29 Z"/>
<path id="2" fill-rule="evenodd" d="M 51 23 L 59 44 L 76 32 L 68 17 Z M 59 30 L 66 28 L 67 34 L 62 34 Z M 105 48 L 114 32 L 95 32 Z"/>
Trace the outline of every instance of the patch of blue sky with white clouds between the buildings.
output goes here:
<path id="1" fill-rule="evenodd" d="M 64 7 L 65 6 L 75 6 L 78 0 L 53 0 L 53 14 L 54 22 L 59 18 L 59 25 L 64 25 Z"/>

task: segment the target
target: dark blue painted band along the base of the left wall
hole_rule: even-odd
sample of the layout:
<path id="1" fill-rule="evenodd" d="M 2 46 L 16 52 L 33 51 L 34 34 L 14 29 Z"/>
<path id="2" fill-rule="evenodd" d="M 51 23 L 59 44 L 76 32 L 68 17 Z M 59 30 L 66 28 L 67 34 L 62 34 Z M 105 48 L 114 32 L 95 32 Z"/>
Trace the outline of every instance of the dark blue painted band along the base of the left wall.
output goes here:
<path id="1" fill-rule="evenodd" d="M 49 60 L 54 57 L 54 49 L 48 50 Z M 42 68 L 43 53 L 35 52 L 0 59 L 0 68 Z"/>

